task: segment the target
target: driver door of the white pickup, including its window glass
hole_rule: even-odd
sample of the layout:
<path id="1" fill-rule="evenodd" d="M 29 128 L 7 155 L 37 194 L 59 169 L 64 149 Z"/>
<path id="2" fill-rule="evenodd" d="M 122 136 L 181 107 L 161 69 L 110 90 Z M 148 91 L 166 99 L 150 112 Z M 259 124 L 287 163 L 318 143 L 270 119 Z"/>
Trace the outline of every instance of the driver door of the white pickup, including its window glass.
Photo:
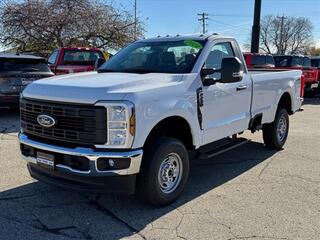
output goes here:
<path id="1" fill-rule="evenodd" d="M 232 42 L 218 42 L 205 62 L 206 68 L 221 69 L 225 57 L 235 55 Z M 219 80 L 220 72 L 210 78 Z M 251 84 L 247 74 L 239 82 L 215 83 L 203 87 L 203 144 L 231 136 L 248 128 L 250 121 Z"/>

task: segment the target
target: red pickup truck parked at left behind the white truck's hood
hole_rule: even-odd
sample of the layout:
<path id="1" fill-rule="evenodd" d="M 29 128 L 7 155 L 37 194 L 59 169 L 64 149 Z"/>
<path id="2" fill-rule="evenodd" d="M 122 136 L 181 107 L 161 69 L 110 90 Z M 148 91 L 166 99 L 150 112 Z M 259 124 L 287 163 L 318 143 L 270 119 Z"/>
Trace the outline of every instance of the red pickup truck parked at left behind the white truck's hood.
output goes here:
<path id="1" fill-rule="evenodd" d="M 97 59 L 105 59 L 99 48 L 62 47 L 53 50 L 48 58 L 51 71 L 56 75 L 95 70 Z"/>

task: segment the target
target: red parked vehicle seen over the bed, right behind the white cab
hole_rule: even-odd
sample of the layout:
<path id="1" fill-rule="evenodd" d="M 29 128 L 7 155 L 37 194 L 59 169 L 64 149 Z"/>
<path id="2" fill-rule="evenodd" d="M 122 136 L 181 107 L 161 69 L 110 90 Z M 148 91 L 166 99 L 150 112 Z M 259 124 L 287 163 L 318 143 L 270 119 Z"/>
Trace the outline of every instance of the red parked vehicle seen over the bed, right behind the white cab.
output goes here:
<path id="1" fill-rule="evenodd" d="M 247 68 L 274 68 L 274 59 L 271 54 L 244 53 Z"/>

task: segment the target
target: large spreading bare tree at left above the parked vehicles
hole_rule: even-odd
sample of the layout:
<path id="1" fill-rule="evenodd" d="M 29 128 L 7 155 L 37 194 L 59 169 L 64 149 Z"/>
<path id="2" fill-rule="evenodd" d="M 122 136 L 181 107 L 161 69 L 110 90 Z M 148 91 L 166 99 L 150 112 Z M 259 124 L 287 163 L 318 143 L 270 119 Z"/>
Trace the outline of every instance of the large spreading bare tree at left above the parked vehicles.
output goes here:
<path id="1" fill-rule="evenodd" d="M 24 0 L 0 5 L 0 41 L 21 51 L 77 45 L 117 49 L 134 40 L 134 18 L 102 0 Z M 143 26 L 137 23 L 137 36 Z"/>

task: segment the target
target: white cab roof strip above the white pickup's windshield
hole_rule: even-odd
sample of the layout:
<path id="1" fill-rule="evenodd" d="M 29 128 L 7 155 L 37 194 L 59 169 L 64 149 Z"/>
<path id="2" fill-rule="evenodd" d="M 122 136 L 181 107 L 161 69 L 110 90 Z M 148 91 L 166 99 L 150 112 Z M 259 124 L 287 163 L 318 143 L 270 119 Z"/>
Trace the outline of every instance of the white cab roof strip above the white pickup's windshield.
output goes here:
<path id="1" fill-rule="evenodd" d="M 143 40 L 139 40 L 139 42 L 152 42 L 152 41 L 183 41 L 183 40 L 195 40 L 195 41 L 204 41 L 207 39 L 215 39 L 215 38 L 232 38 L 228 36 L 223 36 L 217 33 L 213 34 L 192 34 L 192 35 L 167 35 L 167 36 L 158 36 L 154 38 L 147 38 Z M 233 38 L 232 38 L 233 39 Z"/>

